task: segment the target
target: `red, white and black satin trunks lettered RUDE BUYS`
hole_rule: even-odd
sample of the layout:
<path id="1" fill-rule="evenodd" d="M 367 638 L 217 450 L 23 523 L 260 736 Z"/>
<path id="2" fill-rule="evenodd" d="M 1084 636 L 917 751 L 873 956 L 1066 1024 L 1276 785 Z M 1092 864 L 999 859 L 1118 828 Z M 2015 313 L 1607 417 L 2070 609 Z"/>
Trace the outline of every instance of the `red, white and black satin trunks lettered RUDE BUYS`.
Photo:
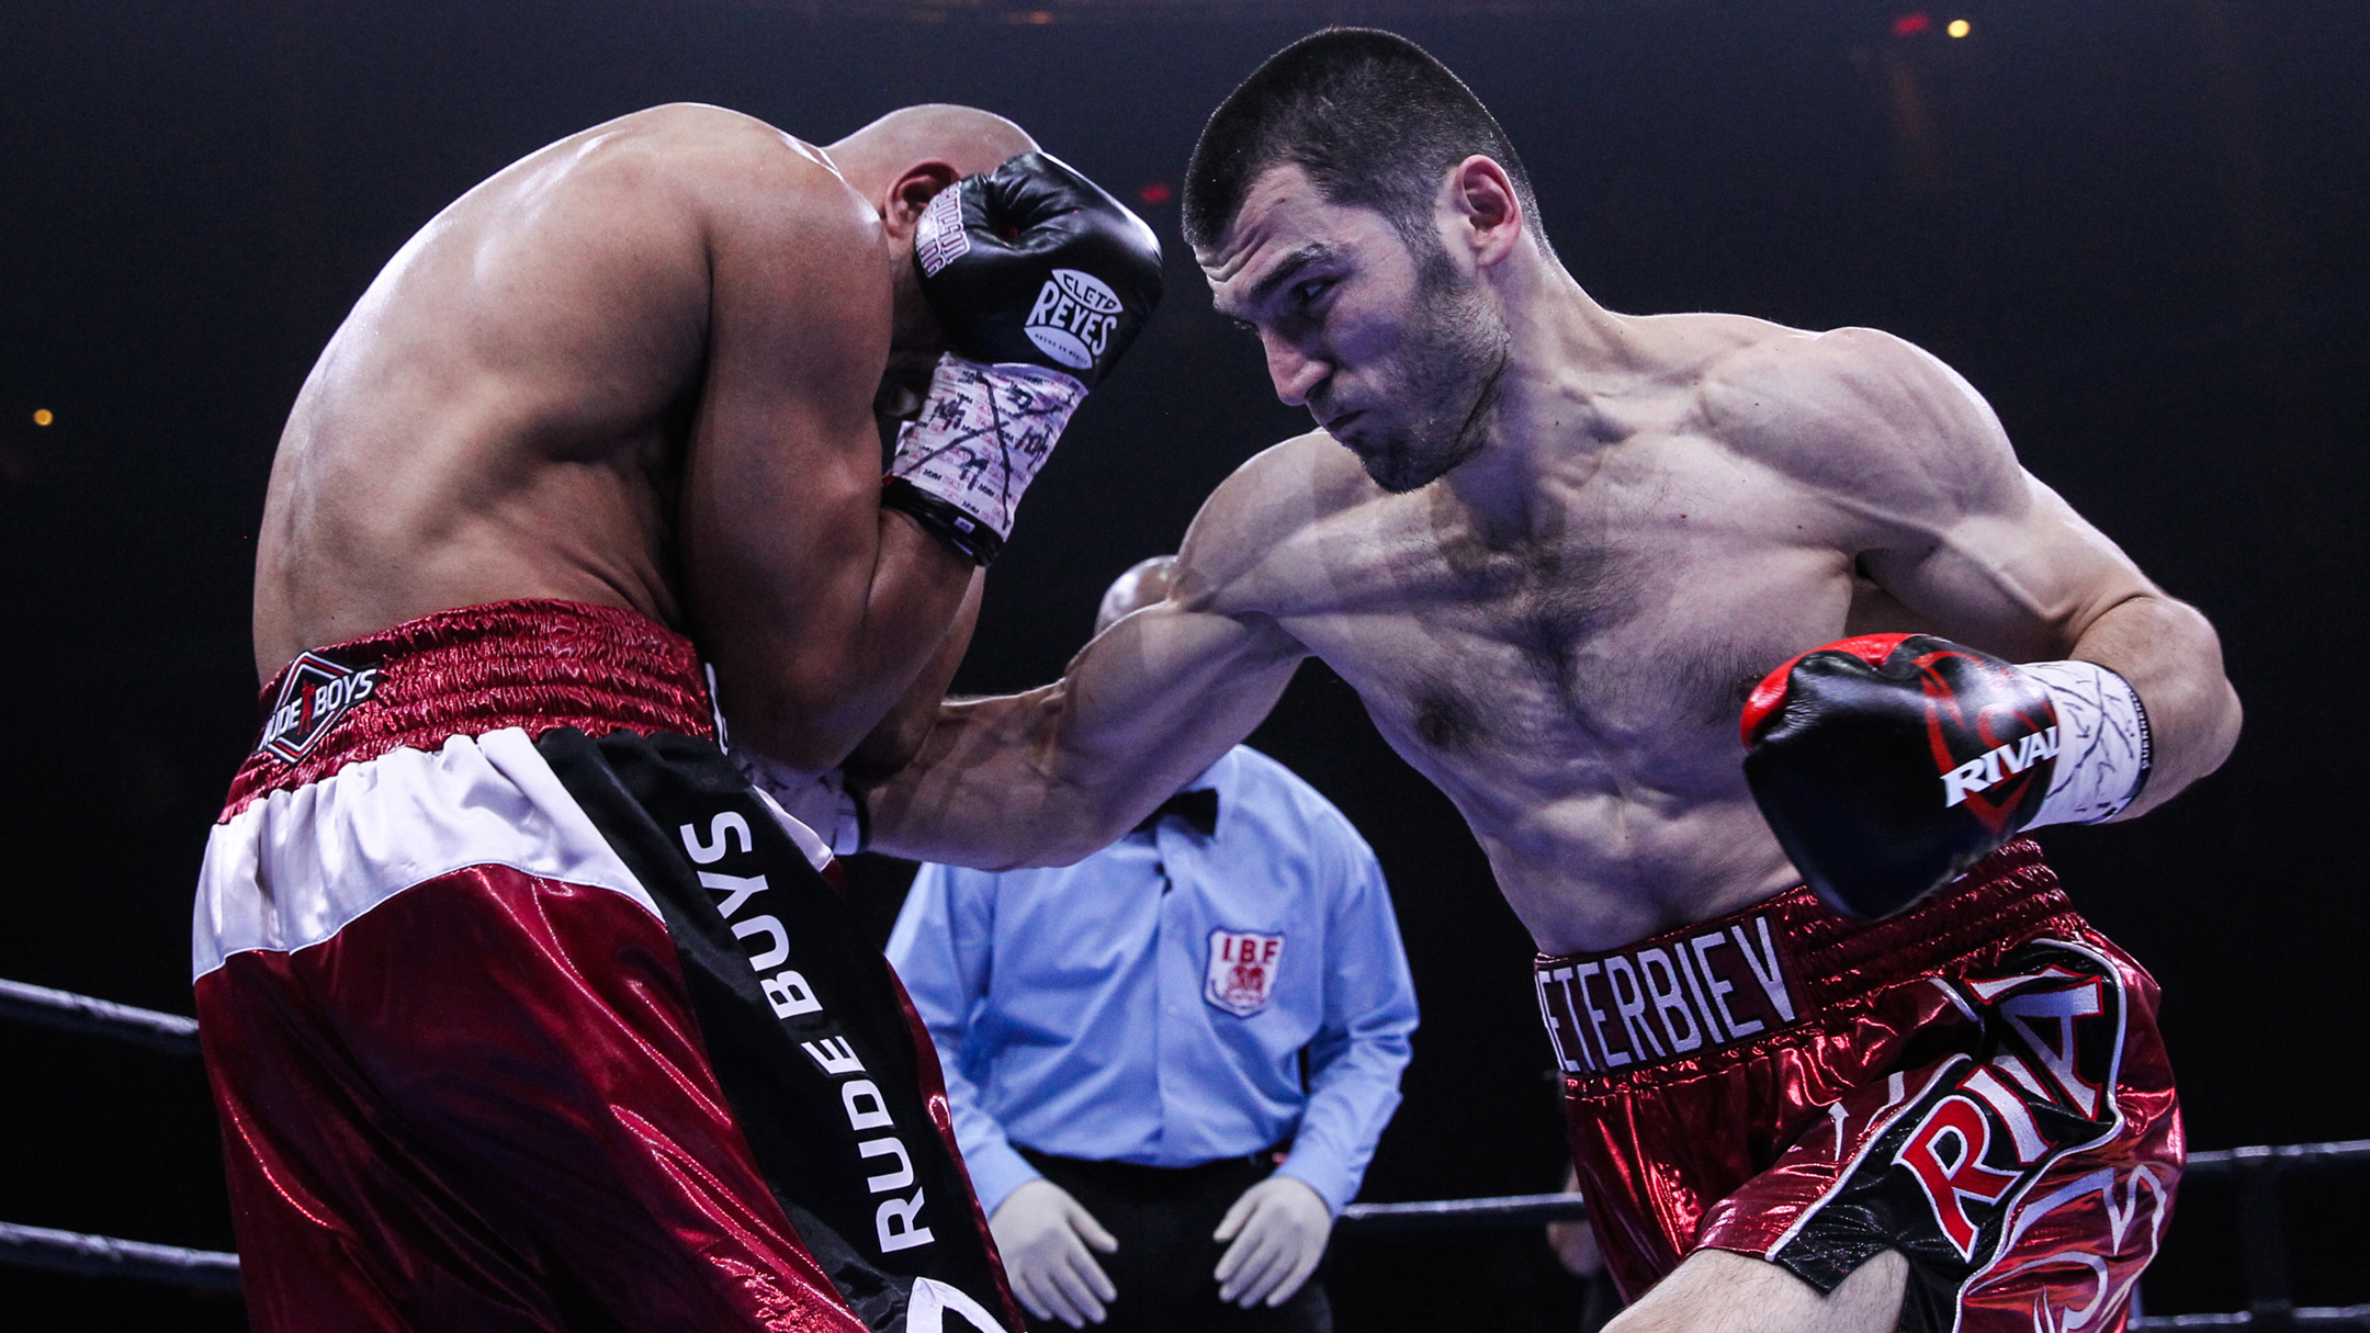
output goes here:
<path id="1" fill-rule="evenodd" d="M 263 704 L 192 932 L 258 1333 L 1021 1328 L 929 1039 L 687 638 L 462 607 Z"/>

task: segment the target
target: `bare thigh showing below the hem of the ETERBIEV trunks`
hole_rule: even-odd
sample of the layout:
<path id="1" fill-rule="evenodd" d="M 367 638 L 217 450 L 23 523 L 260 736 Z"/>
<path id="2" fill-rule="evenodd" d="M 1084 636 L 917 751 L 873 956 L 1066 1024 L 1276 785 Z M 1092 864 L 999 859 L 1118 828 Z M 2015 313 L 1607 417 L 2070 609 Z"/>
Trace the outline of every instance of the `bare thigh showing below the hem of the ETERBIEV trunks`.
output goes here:
<path id="1" fill-rule="evenodd" d="M 1778 1264 L 1697 1250 L 1604 1333 L 1891 1333 L 1908 1271 L 1908 1259 L 1887 1250 L 1820 1295 Z"/>

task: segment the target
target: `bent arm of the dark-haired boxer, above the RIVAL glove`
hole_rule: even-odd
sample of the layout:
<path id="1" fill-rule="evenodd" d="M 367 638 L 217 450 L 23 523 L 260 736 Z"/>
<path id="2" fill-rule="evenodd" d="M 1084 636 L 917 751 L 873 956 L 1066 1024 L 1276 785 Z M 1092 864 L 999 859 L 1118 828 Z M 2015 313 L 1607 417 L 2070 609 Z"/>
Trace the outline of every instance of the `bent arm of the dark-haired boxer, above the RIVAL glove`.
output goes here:
<path id="1" fill-rule="evenodd" d="M 1794 339 L 1770 361 L 1763 401 L 1804 406 L 1766 417 L 1770 460 L 1860 524 L 1858 560 L 1887 593 L 1946 638 L 2014 662 L 2097 662 L 2140 693 L 2154 771 L 2119 818 L 2221 766 L 2240 704 L 2214 626 L 2024 472 L 1965 380 L 1870 330 Z"/>

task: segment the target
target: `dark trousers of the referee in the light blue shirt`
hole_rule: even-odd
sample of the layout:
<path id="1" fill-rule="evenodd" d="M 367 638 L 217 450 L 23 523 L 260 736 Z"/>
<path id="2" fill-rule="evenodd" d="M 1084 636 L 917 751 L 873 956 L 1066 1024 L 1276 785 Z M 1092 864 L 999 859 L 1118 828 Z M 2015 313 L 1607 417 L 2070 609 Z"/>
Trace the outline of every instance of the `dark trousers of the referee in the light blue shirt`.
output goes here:
<path id="1" fill-rule="evenodd" d="M 1112 1255 L 1095 1255 L 1119 1300 L 1097 1333 L 1332 1333 L 1325 1302 L 1325 1264 L 1292 1300 L 1242 1309 L 1218 1300 L 1218 1257 L 1225 1245 L 1211 1231 L 1235 1207 L 1242 1191 L 1275 1172 L 1273 1153 L 1223 1157 L 1199 1167 L 1138 1167 L 1135 1162 L 1081 1162 L 1021 1148 L 1029 1165 L 1066 1188 L 1095 1222 L 1119 1240 Z M 1059 1319 L 1031 1316 L 1033 1333 L 1069 1333 Z"/>

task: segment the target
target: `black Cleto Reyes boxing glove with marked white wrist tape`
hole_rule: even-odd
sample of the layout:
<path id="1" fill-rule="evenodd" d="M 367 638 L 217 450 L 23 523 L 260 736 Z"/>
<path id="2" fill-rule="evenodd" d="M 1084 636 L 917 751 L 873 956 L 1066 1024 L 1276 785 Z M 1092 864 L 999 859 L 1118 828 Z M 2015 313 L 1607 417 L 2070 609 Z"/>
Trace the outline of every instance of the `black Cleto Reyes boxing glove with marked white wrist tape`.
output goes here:
<path id="1" fill-rule="evenodd" d="M 941 190 L 912 261 L 950 351 L 882 503 L 988 565 L 1069 415 L 1159 306 L 1161 242 L 1062 159 L 1024 152 Z"/>

